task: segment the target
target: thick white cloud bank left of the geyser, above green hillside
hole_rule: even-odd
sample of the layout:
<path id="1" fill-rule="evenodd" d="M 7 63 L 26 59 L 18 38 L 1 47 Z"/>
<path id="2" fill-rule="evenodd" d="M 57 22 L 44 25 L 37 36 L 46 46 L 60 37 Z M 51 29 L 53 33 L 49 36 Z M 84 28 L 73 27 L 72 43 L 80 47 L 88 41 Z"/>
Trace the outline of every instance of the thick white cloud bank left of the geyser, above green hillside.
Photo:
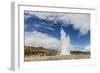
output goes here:
<path id="1" fill-rule="evenodd" d="M 44 47 L 50 49 L 59 49 L 60 41 L 45 33 L 25 32 L 25 46 Z"/>

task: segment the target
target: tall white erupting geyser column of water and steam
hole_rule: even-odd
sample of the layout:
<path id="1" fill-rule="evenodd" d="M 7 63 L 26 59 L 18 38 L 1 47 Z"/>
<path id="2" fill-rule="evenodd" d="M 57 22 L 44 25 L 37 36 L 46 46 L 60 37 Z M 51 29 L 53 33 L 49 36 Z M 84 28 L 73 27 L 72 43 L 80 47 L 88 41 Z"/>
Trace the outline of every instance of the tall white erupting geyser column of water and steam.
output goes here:
<path id="1" fill-rule="evenodd" d="M 68 34 L 65 33 L 63 28 L 60 31 L 61 34 L 61 48 L 60 48 L 60 55 L 70 55 L 70 37 Z"/>

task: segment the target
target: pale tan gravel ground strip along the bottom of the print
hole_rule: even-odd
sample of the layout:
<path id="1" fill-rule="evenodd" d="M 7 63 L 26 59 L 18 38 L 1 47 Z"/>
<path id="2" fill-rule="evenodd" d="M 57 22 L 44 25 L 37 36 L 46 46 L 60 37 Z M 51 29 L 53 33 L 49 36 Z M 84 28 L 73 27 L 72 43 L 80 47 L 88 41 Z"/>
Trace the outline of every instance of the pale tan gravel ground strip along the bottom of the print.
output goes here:
<path id="1" fill-rule="evenodd" d="M 24 61 L 49 61 L 49 60 L 72 60 L 72 59 L 89 59 L 90 54 L 71 54 L 56 56 L 25 56 Z"/>

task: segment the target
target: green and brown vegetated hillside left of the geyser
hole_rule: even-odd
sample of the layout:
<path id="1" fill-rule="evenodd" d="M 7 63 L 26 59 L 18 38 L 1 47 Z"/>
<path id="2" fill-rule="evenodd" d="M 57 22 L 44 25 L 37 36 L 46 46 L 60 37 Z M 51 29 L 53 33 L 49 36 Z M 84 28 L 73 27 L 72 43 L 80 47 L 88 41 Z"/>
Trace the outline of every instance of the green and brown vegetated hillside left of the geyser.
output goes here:
<path id="1" fill-rule="evenodd" d="M 40 55 L 40 56 L 54 56 L 58 53 L 56 50 L 50 50 L 43 47 L 24 47 L 24 55 Z"/>

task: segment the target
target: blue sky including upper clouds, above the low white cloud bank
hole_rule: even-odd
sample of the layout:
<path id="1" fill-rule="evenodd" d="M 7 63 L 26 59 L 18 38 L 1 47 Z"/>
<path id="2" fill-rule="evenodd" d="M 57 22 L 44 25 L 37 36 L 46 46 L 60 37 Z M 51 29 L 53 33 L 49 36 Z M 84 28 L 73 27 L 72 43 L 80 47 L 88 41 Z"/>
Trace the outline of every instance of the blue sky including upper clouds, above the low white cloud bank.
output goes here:
<path id="1" fill-rule="evenodd" d="M 73 46 L 90 45 L 90 15 L 24 11 L 24 31 L 41 32 L 60 40 L 61 27 Z"/>

